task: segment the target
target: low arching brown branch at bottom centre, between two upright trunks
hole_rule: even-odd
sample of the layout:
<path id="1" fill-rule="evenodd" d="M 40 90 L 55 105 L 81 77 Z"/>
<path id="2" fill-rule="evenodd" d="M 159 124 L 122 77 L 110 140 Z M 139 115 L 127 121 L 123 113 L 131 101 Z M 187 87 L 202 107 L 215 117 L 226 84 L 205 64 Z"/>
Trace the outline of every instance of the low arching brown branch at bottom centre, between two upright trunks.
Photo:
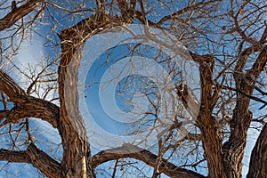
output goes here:
<path id="1" fill-rule="evenodd" d="M 109 160 L 114 160 L 118 158 L 135 158 L 143 161 L 149 166 L 157 166 L 157 155 L 154 155 L 149 150 L 143 150 L 131 144 L 125 144 L 122 147 L 110 150 L 102 150 L 93 156 L 93 168 L 101 165 Z M 195 173 L 193 171 L 180 168 L 174 164 L 168 162 L 166 159 L 162 159 L 160 165 L 158 166 L 160 173 L 164 173 L 170 177 L 177 178 L 204 178 L 204 175 Z"/>

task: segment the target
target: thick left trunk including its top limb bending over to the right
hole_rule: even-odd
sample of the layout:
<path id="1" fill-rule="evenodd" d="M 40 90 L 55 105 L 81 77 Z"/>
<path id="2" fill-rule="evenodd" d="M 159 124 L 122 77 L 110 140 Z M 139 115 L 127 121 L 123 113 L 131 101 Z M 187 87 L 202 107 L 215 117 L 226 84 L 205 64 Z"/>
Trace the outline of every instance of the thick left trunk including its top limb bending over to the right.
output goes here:
<path id="1" fill-rule="evenodd" d="M 94 176 L 85 125 L 78 110 L 77 68 L 80 56 L 78 53 L 76 56 L 74 54 L 90 36 L 124 22 L 116 19 L 100 12 L 71 28 L 62 30 L 60 34 L 62 56 L 59 69 L 59 93 L 63 144 L 62 168 L 67 177 Z"/>

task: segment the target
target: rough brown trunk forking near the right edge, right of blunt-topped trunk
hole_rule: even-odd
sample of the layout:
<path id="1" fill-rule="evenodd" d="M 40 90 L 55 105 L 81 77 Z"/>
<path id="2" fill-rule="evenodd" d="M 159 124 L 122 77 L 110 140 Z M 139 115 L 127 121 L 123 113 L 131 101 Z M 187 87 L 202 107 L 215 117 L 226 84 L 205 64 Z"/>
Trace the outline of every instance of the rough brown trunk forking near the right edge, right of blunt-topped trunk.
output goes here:
<path id="1" fill-rule="evenodd" d="M 259 49 L 259 48 L 257 48 Z M 251 69 L 243 75 L 242 69 L 245 66 L 249 53 L 241 55 L 236 66 L 236 88 L 243 93 L 251 95 L 254 90 L 255 78 L 260 76 L 267 61 L 267 46 L 262 47 L 262 51 L 255 60 Z M 231 119 L 231 135 L 228 142 L 223 144 L 223 160 L 225 173 L 228 177 L 241 178 L 242 160 L 247 142 L 247 129 L 252 121 L 252 112 L 249 111 L 250 98 L 242 93 L 237 93 L 236 107 L 233 110 Z"/>

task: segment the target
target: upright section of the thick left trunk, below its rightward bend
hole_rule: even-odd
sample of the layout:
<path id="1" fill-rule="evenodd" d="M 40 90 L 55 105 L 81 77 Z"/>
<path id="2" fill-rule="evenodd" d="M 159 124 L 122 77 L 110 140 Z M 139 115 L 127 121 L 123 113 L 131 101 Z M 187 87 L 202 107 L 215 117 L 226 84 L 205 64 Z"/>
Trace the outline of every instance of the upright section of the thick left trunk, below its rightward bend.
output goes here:
<path id="1" fill-rule="evenodd" d="M 63 174 L 65 177 L 94 177 L 85 124 L 78 108 L 77 68 L 80 59 L 78 56 L 72 59 L 77 50 L 73 44 L 62 42 L 61 50 L 59 93 Z"/>

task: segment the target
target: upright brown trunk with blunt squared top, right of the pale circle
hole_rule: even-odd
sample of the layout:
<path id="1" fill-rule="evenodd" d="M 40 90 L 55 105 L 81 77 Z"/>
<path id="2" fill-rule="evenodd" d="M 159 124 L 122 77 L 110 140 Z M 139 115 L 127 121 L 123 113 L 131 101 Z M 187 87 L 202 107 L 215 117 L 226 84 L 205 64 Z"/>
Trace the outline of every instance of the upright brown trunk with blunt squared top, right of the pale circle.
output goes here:
<path id="1" fill-rule="evenodd" d="M 206 162 L 208 166 L 208 176 L 211 178 L 226 178 L 223 171 L 222 143 L 217 134 L 217 125 L 212 111 L 212 86 L 214 57 L 211 55 L 197 55 L 190 53 L 192 59 L 199 63 L 199 73 L 201 82 L 201 102 L 197 125 L 201 131 L 201 141 L 205 150 Z"/>

